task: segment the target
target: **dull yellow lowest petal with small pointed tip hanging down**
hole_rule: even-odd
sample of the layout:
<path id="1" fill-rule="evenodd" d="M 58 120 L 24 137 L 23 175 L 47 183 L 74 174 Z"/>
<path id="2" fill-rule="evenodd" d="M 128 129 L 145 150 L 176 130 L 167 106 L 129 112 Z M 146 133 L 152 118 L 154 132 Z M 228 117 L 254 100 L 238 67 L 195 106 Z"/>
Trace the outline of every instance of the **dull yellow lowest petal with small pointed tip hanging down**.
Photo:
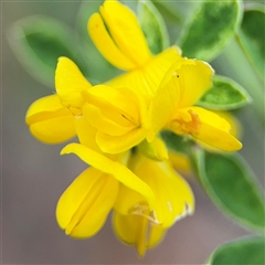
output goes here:
<path id="1" fill-rule="evenodd" d="M 147 248 L 158 244 L 166 232 L 160 225 L 151 225 L 144 216 L 123 215 L 116 211 L 113 215 L 113 226 L 123 242 L 137 246 L 139 256 L 144 256 Z"/>

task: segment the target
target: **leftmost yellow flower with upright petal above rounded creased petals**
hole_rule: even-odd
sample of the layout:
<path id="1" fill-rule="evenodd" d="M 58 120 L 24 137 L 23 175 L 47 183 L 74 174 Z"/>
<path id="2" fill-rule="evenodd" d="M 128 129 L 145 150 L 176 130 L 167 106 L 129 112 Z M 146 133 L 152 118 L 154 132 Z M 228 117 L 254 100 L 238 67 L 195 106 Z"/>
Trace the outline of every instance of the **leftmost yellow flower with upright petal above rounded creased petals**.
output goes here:
<path id="1" fill-rule="evenodd" d="M 92 85 L 67 57 L 60 57 L 55 72 L 56 94 L 35 100 L 25 123 L 34 137 L 45 144 L 59 144 L 76 135 L 75 116 L 82 114 L 82 91 Z"/>

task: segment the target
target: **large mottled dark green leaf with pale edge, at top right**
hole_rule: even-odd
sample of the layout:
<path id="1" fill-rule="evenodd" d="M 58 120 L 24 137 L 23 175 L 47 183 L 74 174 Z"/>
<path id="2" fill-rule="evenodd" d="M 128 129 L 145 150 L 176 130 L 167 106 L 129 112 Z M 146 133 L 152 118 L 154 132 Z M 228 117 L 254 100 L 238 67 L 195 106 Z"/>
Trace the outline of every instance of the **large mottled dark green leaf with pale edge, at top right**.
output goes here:
<path id="1" fill-rule="evenodd" d="M 241 17 L 237 0 L 203 1 L 178 42 L 183 55 L 205 61 L 214 59 L 234 35 Z"/>

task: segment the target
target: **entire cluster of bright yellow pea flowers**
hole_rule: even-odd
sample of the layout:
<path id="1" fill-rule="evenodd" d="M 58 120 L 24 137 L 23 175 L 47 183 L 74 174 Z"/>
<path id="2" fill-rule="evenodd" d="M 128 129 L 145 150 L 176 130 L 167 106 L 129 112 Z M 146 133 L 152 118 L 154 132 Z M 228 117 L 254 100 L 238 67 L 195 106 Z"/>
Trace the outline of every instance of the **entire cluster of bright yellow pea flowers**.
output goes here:
<path id="1" fill-rule="evenodd" d="M 59 200 L 65 233 L 93 236 L 113 211 L 117 236 L 144 255 L 194 211 L 193 193 L 159 134 L 170 130 L 224 151 L 242 144 L 224 118 L 195 106 L 212 86 L 208 63 L 182 57 L 177 46 L 152 55 L 137 17 L 118 1 L 106 0 L 87 29 L 103 56 L 125 73 L 92 86 L 73 61 L 60 57 L 56 93 L 30 106 L 26 124 L 46 144 L 77 136 L 61 155 L 75 153 L 89 166 Z"/>

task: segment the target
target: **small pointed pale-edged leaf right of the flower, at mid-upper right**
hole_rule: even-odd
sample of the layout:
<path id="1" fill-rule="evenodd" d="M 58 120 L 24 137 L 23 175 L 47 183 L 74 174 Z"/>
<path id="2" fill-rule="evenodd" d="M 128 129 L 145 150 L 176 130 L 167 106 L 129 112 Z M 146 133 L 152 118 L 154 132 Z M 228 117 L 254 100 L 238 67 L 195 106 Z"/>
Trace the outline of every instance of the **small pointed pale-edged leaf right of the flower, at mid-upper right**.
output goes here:
<path id="1" fill-rule="evenodd" d="M 198 102 L 199 106 L 214 110 L 231 110 L 251 102 L 248 93 L 236 82 L 215 75 L 213 86 Z"/>

